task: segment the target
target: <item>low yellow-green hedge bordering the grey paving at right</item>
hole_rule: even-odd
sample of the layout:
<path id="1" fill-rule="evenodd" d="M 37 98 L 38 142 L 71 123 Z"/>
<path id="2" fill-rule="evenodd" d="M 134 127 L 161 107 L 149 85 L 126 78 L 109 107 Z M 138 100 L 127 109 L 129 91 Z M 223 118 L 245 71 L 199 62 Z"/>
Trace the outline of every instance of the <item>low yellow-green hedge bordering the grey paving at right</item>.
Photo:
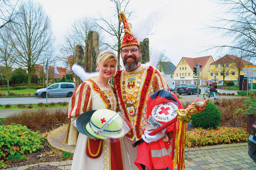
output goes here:
<path id="1" fill-rule="evenodd" d="M 247 142 L 248 132 L 236 127 L 218 127 L 217 130 L 193 129 L 186 133 L 186 147 Z"/>

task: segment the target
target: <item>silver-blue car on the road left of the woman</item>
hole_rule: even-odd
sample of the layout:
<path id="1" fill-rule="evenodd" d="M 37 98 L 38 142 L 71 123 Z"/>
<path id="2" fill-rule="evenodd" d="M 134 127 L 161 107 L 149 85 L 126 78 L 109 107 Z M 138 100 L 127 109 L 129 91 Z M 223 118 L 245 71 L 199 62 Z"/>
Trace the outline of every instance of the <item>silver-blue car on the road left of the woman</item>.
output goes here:
<path id="1" fill-rule="evenodd" d="M 68 96 L 71 97 L 75 91 L 75 83 L 59 82 L 53 83 L 48 87 L 48 96 Z M 46 98 L 46 88 L 35 91 L 35 96 Z"/>

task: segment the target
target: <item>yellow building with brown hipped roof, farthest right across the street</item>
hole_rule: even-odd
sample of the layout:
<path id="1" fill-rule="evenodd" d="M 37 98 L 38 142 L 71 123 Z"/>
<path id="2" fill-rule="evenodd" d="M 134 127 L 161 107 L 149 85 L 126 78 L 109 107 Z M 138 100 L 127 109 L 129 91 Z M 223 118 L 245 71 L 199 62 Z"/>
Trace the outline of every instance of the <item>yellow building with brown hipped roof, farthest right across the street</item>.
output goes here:
<path id="1" fill-rule="evenodd" d="M 242 68 L 248 65 L 253 64 L 234 55 L 225 55 L 210 64 L 208 81 L 209 83 L 216 81 L 218 85 L 223 85 L 224 78 L 225 83 L 233 81 L 235 85 L 238 85 L 239 75 L 244 75 Z M 253 81 L 253 83 L 255 82 L 256 81 Z"/>

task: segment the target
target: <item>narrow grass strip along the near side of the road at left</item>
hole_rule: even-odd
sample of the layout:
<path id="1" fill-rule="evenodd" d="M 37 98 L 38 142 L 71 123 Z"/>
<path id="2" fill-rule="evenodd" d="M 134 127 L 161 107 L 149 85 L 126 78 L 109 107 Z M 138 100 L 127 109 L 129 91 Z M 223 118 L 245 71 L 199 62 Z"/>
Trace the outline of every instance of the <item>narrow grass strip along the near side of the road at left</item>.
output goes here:
<path id="1" fill-rule="evenodd" d="M 59 107 L 68 107 L 68 103 L 63 105 L 62 103 L 55 103 L 54 105 L 52 103 L 48 103 L 48 106 L 45 106 L 45 104 L 42 104 L 38 106 L 38 104 L 12 104 L 10 107 L 5 107 L 5 105 L 0 106 L 0 110 L 12 110 L 12 109 L 28 109 L 28 106 L 32 105 L 33 108 L 59 108 Z M 31 107 L 29 107 L 31 108 Z"/>

